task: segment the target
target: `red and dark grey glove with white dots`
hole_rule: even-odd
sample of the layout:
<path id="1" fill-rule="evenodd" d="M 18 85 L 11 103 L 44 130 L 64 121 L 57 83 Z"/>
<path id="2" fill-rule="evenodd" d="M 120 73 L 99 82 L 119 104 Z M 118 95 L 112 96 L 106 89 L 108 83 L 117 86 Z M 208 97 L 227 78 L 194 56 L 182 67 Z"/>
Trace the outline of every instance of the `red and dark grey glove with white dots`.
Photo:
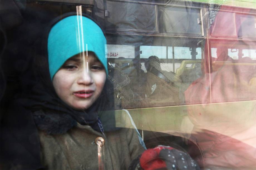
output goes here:
<path id="1" fill-rule="evenodd" d="M 196 162 L 187 154 L 169 146 L 147 149 L 140 157 L 140 167 L 144 170 L 199 170 Z"/>

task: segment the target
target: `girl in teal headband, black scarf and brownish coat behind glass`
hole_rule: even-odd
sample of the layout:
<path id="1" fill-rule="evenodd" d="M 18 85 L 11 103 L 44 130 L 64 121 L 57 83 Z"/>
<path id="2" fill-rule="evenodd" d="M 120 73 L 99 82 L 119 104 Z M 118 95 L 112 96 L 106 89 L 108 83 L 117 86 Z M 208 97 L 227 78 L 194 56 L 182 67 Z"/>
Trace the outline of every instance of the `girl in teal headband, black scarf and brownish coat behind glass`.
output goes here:
<path id="1" fill-rule="evenodd" d="M 54 130 L 55 123 L 47 125 L 50 109 L 34 112 L 41 162 L 49 169 L 127 169 L 144 150 L 129 115 L 107 112 L 104 106 L 109 104 L 104 102 L 109 96 L 102 92 L 107 90 L 105 44 L 101 28 L 85 16 L 67 16 L 51 28 L 48 63 L 59 101 L 54 107 L 70 110 L 70 118 L 63 121 L 69 121 L 70 128 Z M 50 116 L 62 117 L 60 111 L 55 112 Z"/>

